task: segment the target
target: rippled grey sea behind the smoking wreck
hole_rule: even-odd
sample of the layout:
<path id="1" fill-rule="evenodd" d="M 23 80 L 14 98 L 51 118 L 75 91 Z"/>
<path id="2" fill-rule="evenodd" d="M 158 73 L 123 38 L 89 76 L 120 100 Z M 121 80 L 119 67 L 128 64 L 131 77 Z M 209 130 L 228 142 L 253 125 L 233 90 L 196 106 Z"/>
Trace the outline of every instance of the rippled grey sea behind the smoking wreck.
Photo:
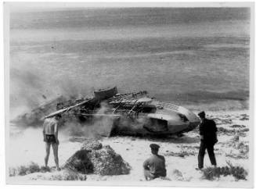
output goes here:
<path id="1" fill-rule="evenodd" d="M 248 109 L 250 9 L 10 14 L 10 111 L 117 86 L 189 109 Z"/>

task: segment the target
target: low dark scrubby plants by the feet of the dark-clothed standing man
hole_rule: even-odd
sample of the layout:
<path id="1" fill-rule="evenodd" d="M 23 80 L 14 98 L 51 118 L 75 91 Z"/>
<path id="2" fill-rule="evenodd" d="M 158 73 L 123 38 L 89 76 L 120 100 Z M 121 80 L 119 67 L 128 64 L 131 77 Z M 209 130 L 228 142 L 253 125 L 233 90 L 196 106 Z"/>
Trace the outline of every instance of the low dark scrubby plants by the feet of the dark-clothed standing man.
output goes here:
<path id="1" fill-rule="evenodd" d="M 242 166 L 233 166 L 231 162 L 227 162 L 227 166 L 207 167 L 203 169 L 203 179 L 215 180 L 221 176 L 232 175 L 237 180 L 247 180 L 247 171 Z"/>

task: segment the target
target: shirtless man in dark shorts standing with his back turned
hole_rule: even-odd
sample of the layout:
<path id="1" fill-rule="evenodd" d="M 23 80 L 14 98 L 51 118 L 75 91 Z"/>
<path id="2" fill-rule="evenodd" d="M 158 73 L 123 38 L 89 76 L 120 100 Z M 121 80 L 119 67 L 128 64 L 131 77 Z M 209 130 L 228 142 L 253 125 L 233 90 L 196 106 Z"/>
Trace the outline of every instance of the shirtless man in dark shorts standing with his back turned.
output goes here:
<path id="1" fill-rule="evenodd" d="M 58 114 L 55 117 L 49 117 L 45 119 L 43 124 L 43 135 L 45 141 L 45 167 L 47 167 L 49 154 L 50 154 L 50 147 L 52 145 L 54 161 L 56 163 L 56 169 L 59 170 L 59 159 L 58 159 L 58 120 L 61 116 Z"/>

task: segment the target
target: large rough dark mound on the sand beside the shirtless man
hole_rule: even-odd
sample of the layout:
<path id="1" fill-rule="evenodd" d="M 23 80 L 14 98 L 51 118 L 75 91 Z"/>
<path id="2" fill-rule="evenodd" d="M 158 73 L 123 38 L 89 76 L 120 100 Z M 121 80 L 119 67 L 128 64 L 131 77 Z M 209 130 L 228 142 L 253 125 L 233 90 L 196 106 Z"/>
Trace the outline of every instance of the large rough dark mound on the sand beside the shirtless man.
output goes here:
<path id="1" fill-rule="evenodd" d="M 85 174 L 121 175 L 128 174 L 131 166 L 109 145 L 103 146 L 98 141 L 85 141 L 81 150 L 67 159 L 63 168 Z"/>

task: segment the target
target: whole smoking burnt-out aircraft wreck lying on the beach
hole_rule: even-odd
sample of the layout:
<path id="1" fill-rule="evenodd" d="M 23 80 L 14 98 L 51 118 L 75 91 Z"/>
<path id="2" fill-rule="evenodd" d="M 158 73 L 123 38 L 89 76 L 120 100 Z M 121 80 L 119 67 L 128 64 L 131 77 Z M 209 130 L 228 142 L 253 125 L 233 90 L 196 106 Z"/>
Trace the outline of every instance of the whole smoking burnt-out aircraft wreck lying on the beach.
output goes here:
<path id="1" fill-rule="evenodd" d="M 44 107 L 34 112 L 44 114 L 42 109 Z M 193 130 L 200 123 L 193 112 L 182 106 L 149 98 L 146 91 L 117 94 L 117 87 L 94 91 L 92 98 L 59 102 L 56 110 L 48 116 L 44 114 L 44 118 L 61 114 L 64 118 L 73 117 L 79 123 L 90 122 L 97 117 L 111 118 L 113 121 L 108 136 L 178 135 Z M 27 118 L 27 115 L 24 117 Z"/>

